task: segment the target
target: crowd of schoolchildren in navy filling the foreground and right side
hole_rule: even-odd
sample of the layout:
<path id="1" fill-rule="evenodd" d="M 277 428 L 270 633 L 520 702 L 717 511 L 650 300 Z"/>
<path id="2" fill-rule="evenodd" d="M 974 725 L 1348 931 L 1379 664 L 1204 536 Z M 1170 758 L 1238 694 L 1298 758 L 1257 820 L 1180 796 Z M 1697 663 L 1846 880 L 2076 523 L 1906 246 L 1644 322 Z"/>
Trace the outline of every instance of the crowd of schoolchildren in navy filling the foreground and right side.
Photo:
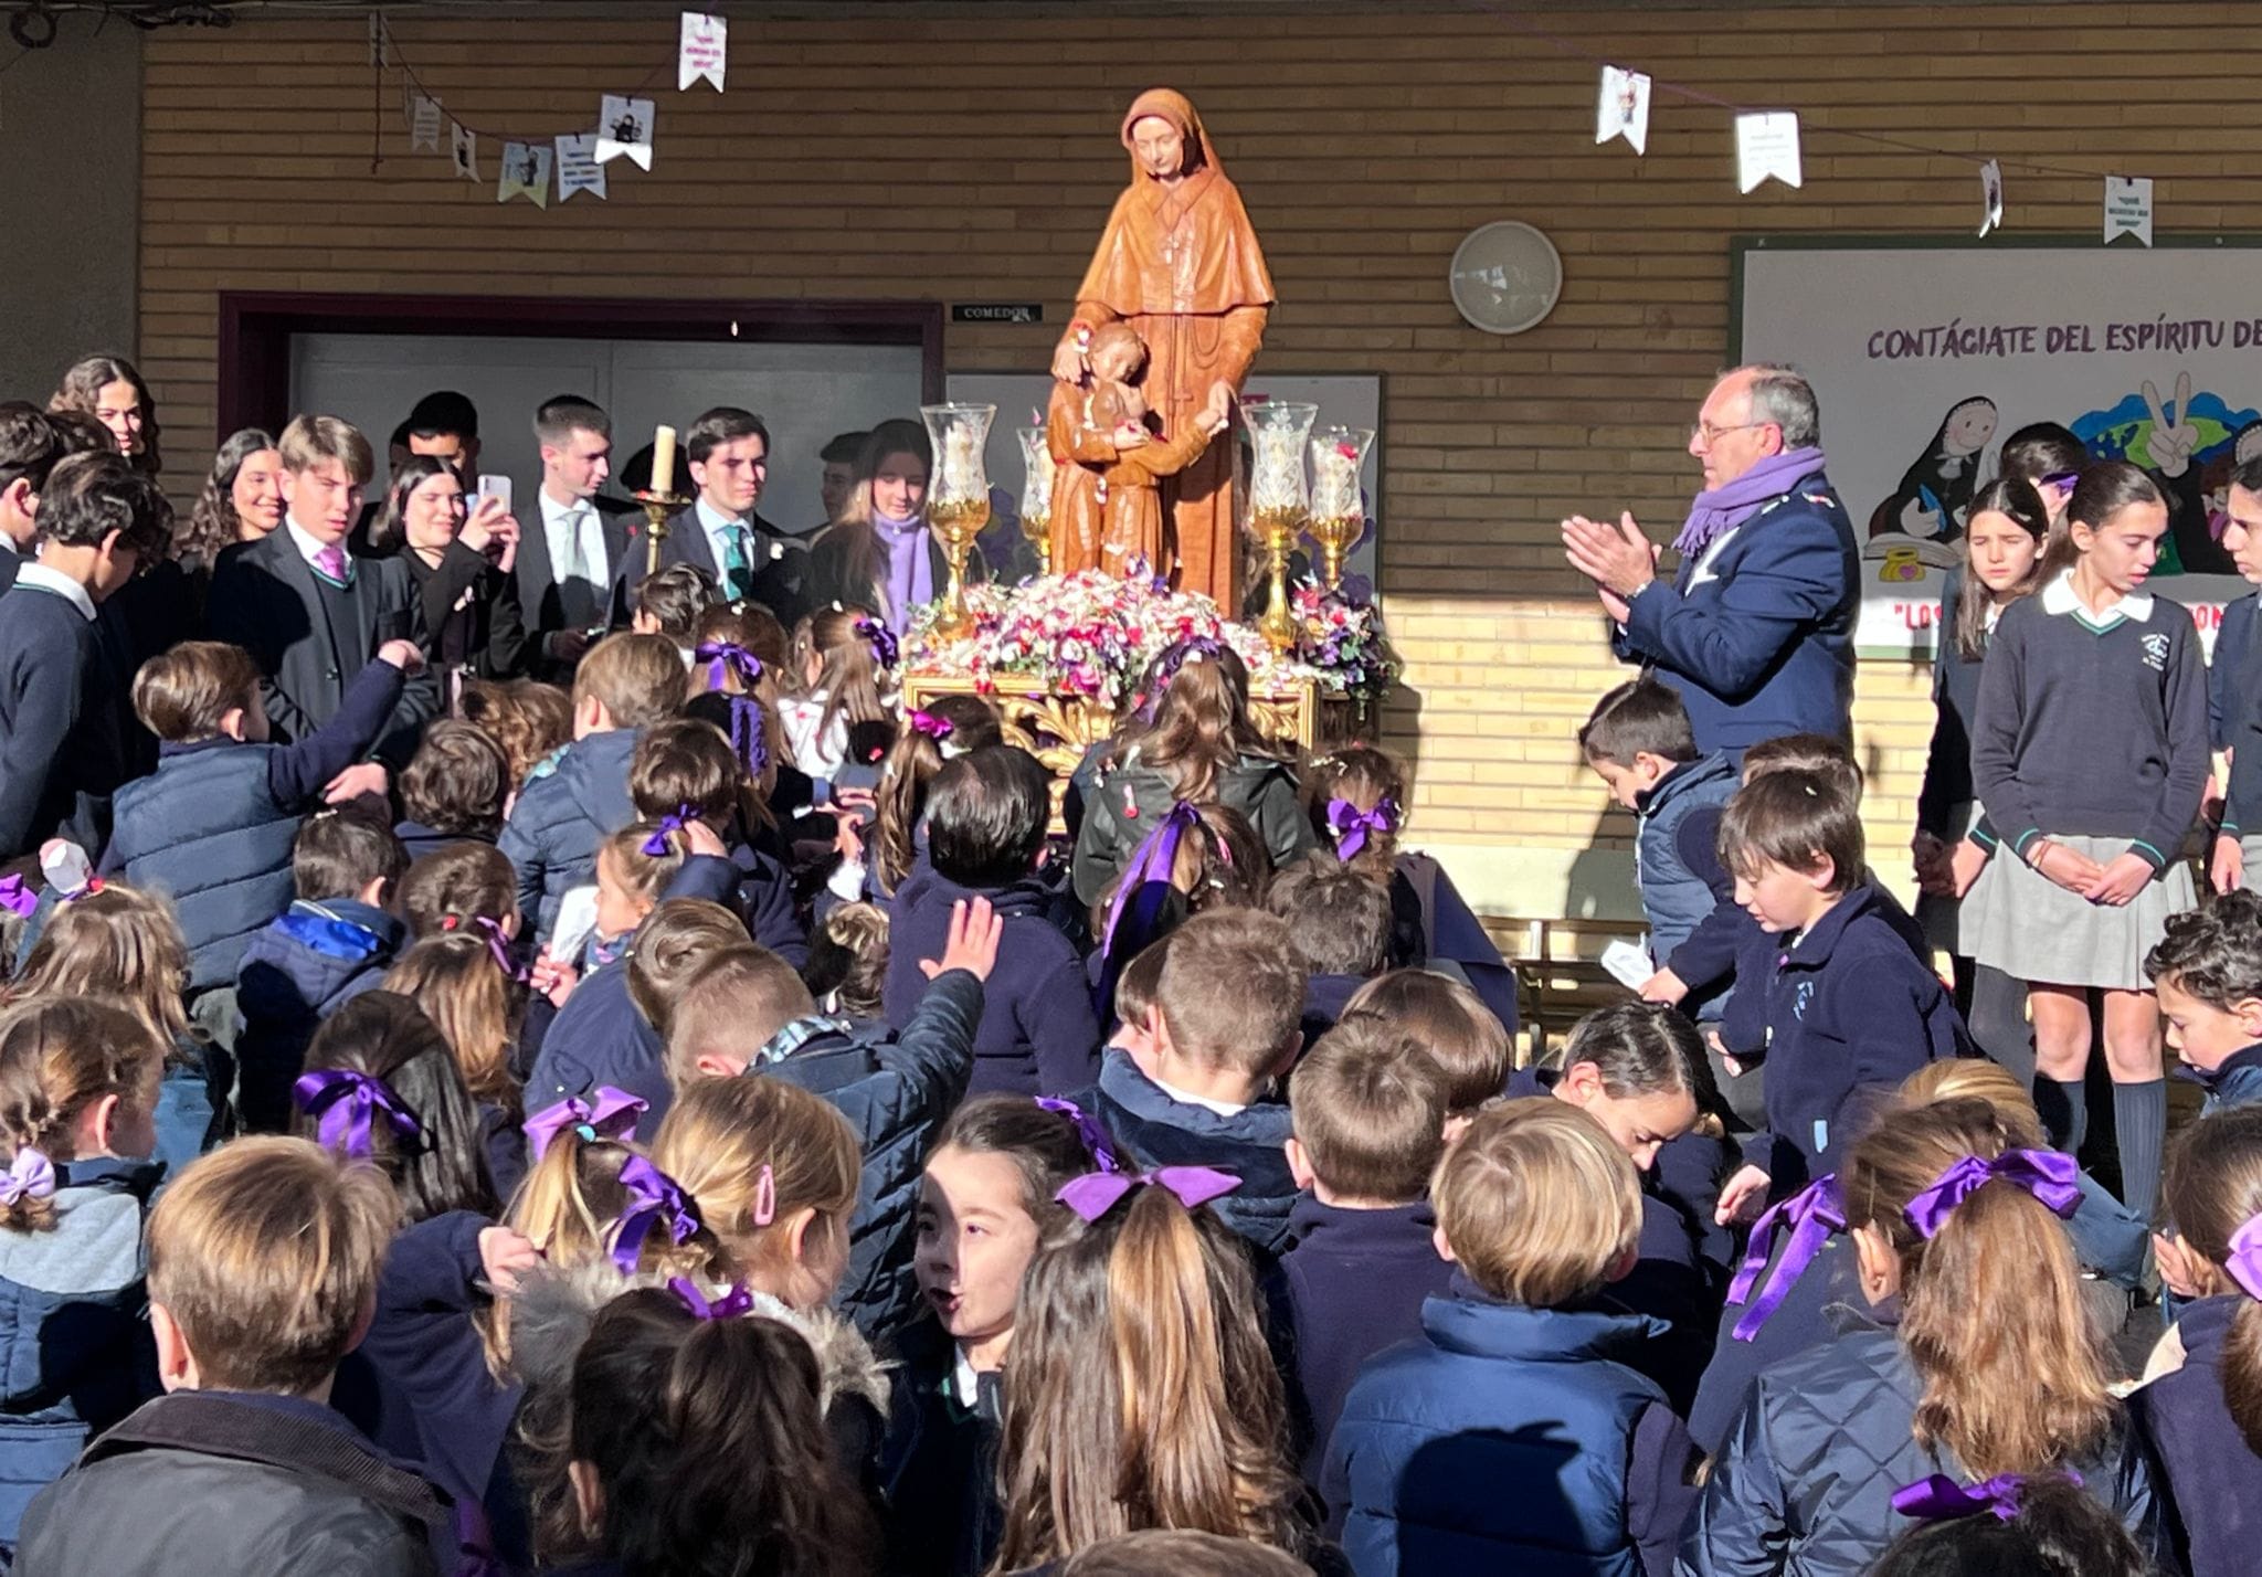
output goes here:
<path id="1" fill-rule="evenodd" d="M 292 529 L 346 434 L 285 434 Z M 323 686 L 122 672 L 147 468 L 0 480 L 16 1570 L 2251 1570 L 2262 683 L 2199 905 L 2165 505 L 2070 434 L 1972 500 L 1916 914 L 1846 742 L 1706 756 L 1635 679 L 1579 749 L 1656 973 L 1529 1066 L 1402 767 L 1215 643 L 1056 803 L 875 611 L 697 577 L 561 683 L 443 699 L 351 561 Z"/>

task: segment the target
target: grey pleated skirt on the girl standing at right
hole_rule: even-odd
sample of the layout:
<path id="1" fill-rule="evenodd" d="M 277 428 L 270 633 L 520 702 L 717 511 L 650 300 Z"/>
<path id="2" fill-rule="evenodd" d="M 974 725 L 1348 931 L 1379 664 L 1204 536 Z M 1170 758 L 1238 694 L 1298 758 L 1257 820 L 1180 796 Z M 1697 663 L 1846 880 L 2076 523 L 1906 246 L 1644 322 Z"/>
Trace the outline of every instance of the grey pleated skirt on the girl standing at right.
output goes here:
<path id="1" fill-rule="evenodd" d="M 2126 837 L 2058 837 L 2097 864 L 2129 848 Z M 2054 986 L 2149 991 L 2144 955 L 2167 934 L 2167 916 L 2199 903 L 2192 867 L 2172 862 L 2126 905 L 2090 903 L 1997 848 L 1963 896 L 1961 939 L 1972 957 L 2011 980 Z"/>

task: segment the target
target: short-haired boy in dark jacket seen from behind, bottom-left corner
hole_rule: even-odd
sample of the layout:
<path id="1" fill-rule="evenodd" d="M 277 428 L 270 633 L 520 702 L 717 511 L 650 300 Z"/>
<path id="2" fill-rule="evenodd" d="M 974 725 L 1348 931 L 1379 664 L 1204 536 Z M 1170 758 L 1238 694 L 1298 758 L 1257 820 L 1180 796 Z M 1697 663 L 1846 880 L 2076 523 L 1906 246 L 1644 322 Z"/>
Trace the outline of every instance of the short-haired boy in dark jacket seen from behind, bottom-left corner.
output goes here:
<path id="1" fill-rule="evenodd" d="M 195 1550 L 199 1570 L 432 1570 L 446 1500 L 328 1405 L 398 1224 L 380 1172 L 301 1138 L 238 1140 L 181 1172 L 149 1217 L 167 1396 L 32 1502 L 23 1568 L 165 1570 Z"/>

